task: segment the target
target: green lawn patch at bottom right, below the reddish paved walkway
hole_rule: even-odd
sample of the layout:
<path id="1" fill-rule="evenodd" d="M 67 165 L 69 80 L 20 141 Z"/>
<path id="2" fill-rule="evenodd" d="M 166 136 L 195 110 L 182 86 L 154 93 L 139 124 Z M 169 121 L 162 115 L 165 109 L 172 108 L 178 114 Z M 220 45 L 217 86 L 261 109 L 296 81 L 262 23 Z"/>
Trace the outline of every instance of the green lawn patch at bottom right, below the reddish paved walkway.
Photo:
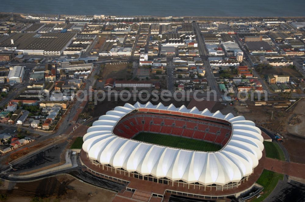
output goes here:
<path id="1" fill-rule="evenodd" d="M 259 198 L 254 197 L 253 199 L 251 199 L 251 202 L 263 201 L 274 190 L 274 188 L 278 184 L 278 180 L 283 179 L 283 174 L 264 169 L 260 178 L 256 181 L 256 183 L 260 184 L 261 186 L 264 186 L 264 193 Z"/>

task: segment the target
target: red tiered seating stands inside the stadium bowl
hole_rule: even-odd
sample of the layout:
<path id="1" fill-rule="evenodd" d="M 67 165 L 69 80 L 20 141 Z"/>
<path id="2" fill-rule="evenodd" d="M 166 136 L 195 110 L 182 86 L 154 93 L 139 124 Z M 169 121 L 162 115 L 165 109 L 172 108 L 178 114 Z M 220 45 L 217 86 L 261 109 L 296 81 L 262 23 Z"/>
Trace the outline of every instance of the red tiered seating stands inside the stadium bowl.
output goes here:
<path id="1" fill-rule="evenodd" d="M 221 145 L 228 142 L 231 127 L 227 122 L 202 115 L 199 117 L 204 119 L 151 112 L 128 114 L 118 122 L 113 132 L 124 138 L 132 138 L 136 133 L 144 131 L 184 136 Z"/>

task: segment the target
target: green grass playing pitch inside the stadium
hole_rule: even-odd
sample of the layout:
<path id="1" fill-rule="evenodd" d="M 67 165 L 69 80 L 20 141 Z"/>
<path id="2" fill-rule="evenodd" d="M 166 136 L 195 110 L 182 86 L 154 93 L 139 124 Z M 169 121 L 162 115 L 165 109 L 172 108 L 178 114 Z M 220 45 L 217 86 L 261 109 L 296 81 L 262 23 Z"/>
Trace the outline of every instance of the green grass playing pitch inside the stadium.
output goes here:
<path id="1" fill-rule="evenodd" d="M 205 152 L 215 152 L 222 148 L 221 145 L 216 145 L 201 140 L 182 138 L 173 135 L 154 134 L 154 133 L 139 133 L 132 139 L 147 143 L 152 143 L 156 145 L 163 145 L 168 147 L 191 149 L 191 150 L 198 150 Z"/>

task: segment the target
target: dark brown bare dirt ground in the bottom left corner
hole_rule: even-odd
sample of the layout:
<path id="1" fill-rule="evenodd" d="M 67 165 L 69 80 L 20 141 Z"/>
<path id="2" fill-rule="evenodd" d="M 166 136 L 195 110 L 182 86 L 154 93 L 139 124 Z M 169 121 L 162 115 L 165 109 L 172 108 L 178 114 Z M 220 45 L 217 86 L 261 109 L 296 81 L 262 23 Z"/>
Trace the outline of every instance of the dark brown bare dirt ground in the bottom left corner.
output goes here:
<path id="1" fill-rule="evenodd" d="M 6 193 L 7 202 L 27 202 L 34 196 L 45 201 L 108 202 L 115 193 L 81 183 L 71 176 L 63 175 L 31 183 L 3 183 L 0 193 Z"/>

